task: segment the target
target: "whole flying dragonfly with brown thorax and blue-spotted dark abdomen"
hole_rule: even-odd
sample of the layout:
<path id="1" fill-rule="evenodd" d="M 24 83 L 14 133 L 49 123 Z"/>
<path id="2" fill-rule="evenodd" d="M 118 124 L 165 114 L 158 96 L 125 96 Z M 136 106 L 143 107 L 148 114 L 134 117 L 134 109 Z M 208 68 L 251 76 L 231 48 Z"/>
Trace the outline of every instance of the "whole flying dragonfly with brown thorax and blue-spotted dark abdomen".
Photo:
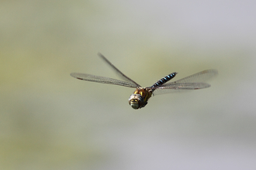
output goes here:
<path id="1" fill-rule="evenodd" d="M 116 66 L 110 63 L 109 60 L 106 59 L 106 57 L 101 53 L 98 53 L 98 56 L 100 56 L 107 64 L 109 64 L 109 66 L 111 66 L 111 68 L 115 70 L 115 72 L 118 73 L 120 78 L 123 80 L 116 80 L 105 76 L 95 76 L 86 73 L 71 73 L 71 76 L 78 80 L 92 81 L 96 83 L 108 83 L 123 87 L 136 88 L 128 100 L 130 106 L 133 107 L 133 109 L 140 109 L 145 107 L 147 105 L 147 101 L 154 95 L 185 90 L 199 90 L 210 87 L 210 84 L 206 83 L 206 80 L 209 80 L 218 74 L 217 70 L 204 70 L 191 76 L 186 76 L 180 80 L 167 83 L 177 75 L 177 72 L 174 72 L 164 76 L 150 87 L 141 87 L 140 84 L 136 83 L 134 80 L 130 79 L 120 70 L 118 70 Z"/>

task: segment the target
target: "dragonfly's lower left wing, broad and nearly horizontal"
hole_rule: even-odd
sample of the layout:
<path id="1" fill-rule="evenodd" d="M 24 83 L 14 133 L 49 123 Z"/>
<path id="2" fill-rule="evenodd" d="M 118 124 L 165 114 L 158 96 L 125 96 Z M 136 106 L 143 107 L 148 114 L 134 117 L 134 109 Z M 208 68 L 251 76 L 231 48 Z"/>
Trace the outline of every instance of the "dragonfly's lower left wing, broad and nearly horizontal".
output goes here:
<path id="1" fill-rule="evenodd" d="M 97 83 L 109 83 L 109 84 L 114 84 L 114 85 L 123 86 L 123 87 L 132 87 L 132 88 L 137 87 L 137 84 L 122 81 L 122 80 L 116 80 L 116 79 L 112 79 L 105 76 L 95 76 L 95 75 L 86 74 L 86 73 L 71 73 L 71 76 L 79 80 L 93 81 Z"/>

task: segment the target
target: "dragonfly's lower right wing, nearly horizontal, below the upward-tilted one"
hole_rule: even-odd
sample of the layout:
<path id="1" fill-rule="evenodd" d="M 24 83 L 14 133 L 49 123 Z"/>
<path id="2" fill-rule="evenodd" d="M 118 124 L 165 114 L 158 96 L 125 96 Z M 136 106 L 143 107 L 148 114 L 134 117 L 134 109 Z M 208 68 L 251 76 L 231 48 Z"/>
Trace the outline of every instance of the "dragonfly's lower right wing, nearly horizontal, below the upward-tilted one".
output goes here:
<path id="1" fill-rule="evenodd" d="M 187 90 L 198 90 L 210 87 L 209 83 L 174 83 L 166 86 L 156 87 L 153 91 L 153 95 L 159 95 L 164 93 L 175 93 L 175 92 L 185 92 Z"/>

